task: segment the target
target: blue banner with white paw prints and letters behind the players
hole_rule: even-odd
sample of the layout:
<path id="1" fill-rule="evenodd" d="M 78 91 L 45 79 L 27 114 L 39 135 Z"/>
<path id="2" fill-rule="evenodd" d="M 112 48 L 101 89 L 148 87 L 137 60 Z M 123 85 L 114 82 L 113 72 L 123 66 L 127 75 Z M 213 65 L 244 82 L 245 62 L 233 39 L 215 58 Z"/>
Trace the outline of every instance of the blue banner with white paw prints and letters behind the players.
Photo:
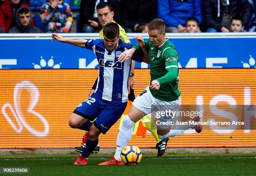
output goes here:
<path id="1" fill-rule="evenodd" d="M 170 39 L 179 52 L 182 68 L 256 67 L 256 38 Z M 131 40 L 136 44 L 136 40 Z M 46 39 L 0 40 L 0 68 L 98 68 L 92 51 Z M 255 58 L 255 59 L 254 59 Z M 148 68 L 136 63 L 136 68 Z"/>

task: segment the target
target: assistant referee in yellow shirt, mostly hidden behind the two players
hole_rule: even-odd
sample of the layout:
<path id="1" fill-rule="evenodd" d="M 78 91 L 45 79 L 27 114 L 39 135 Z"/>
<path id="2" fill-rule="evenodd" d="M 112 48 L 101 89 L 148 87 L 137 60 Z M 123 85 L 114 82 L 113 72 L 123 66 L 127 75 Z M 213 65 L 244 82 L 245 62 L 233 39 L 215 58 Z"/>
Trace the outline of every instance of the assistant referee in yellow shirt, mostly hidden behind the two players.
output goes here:
<path id="1" fill-rule="evenodd" d="M 114 12 L 112 10 L 110 3 L 108 3 L 108 2 L 100 2 L 96 6 L 96 9 L 97 9 L 97 15 L 98 15 L 100 25 L 102 26 L 102 30 L 100 30 L 100 39 L 103 39 L 103 29 L 105 28 L 105 25 L 108 24 L 109 22 L 115 22 L 113 19 Z M 120 32 L 120 40 L 123 40 L 123 42 L 125 42 L 125 43 L 131 43 L 125 33 L 125 30 L 120 25 L 118 25 L 118 26 L 119 26 L 119 32 Z M 135 66 L 135 61 L 132 61 L 131 71 L 130 71 L 129 77 L 128 77 L 128 85 L 129 85 L 128 99 L 129 99 L 129 102 L 128 102 L 127 108 L 130 108 L 131 102 L 133 102 L 133 100 L 135 99 L 134 90 L 133 90 L 133 84 L 135 83 L 134 77 L 133 77 L 134 76 L 134 74 L 133 74 L 134 66 Z M 89 97 L 95 92 L 96 85 L 97 85 L 97 79 L 90 91 Z M 124 116 L 124 114 L 122 115 L 122 117 L 123 116 Z M 140 121 L 142 123 L 138 122 L 136 124 L 136 126 L 133 130 L 133 134 L 137 134 L 139 136 L 146 137 L 146 130 L 148 129 L 153 134 L 154 138 L 156 139 L 156 149 L 158 149 L 157 156 L 162 156 L 166 151 L 166 147 L 167 147 L 169 138 L 160 139 L 158 137 L 156 129 L 151 128 L 151 117 L 150 116 L 147 115 L 146 117 L 143 117 Z M 122 124 L 122 120 L 121 120 L 120 124 Z M 82 152 L 82 150 L 84 148 L 84 144 L 86 143 L 86 140 L 87 140 L 87 135 L 88 135 L 88 132 L 86 132 L 82 138 L 82 146 L 74 147 L 75 151 Z M 100 146 L 98 144 L 95 147 L 95 149 L 93 150 L 93 152 L 98 152 L 99 149 L 100 149 Z"/>

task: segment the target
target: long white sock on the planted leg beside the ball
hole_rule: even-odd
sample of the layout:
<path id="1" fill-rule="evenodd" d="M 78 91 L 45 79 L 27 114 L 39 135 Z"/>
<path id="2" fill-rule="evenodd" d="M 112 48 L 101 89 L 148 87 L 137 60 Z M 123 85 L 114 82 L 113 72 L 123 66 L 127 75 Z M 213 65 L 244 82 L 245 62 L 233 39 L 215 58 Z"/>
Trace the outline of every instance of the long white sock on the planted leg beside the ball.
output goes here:
<path id="1" fill-rule="evenodd" d="M 116 140 L 116 150 L 115 150 L 115 159 L 121 161 L 120 155 L 122 149 L 127 145 L 128 141 L 131 139 L 133 133 L 134 122 L 125 115 L 123 117 L 123 124 L 118 132 L 118 137 Z"/>

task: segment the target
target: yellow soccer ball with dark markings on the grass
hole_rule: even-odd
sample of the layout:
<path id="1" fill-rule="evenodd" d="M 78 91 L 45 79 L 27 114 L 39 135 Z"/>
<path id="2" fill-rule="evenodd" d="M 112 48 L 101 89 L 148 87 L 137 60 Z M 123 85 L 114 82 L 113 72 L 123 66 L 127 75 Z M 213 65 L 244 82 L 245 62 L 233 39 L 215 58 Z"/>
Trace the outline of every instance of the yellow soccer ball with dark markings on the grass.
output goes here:
<path id="1" fill-rule="evenodd" d="M 142 159 L 141 149 L 134 145 L 128 145 L 121 151 L 121 160 L 127 166 L 139 164 Z"/>

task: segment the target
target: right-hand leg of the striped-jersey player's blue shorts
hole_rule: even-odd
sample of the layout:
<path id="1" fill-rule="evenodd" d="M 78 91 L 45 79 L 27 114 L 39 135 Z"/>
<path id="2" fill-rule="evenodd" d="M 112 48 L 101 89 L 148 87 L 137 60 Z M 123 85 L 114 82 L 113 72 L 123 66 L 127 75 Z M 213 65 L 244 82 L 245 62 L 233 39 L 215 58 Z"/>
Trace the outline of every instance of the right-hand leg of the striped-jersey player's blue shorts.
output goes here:
<path id="1" fill-rule="evenodd" d="M 93 122 L 102 134 L 105 134 L 120 119 L 127 105 L 126 102 L 114 104 L 110 102 L 105 105 L 105 108 L 100 111 L 97 119 Z"/>

